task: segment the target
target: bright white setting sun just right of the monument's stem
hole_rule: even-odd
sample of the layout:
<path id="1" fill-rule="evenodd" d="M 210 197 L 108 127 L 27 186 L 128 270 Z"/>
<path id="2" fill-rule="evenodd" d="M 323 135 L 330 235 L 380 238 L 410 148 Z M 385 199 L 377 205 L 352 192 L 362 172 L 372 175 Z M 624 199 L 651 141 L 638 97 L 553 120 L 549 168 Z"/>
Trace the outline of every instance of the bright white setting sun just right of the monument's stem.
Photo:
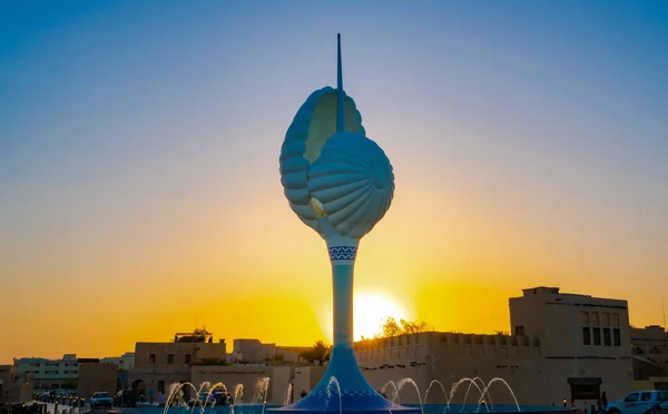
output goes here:
<path id="1" fill-rule="evenodd" d="M 406 313 L 401 305 L 377 294 L 361 294 L 354 298 L 354 337 L 371 338 L 381 333 L 385 317 L 405 319 Z"/>

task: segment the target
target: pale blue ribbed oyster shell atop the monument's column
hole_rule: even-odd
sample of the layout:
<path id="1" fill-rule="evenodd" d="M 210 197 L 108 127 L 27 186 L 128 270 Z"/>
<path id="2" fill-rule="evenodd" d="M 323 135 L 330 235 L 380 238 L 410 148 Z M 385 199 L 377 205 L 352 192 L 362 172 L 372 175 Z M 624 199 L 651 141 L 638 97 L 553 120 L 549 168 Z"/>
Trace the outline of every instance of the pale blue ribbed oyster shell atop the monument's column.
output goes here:
<path id="1" fill-rule="evenodd" d="M 361 239 L 392 203 L 392 165 L 345 96 L 341 65 L 337 89 L 314 91 L 295 115 L 279 161 L 291 208 L 326 240 Z"/>

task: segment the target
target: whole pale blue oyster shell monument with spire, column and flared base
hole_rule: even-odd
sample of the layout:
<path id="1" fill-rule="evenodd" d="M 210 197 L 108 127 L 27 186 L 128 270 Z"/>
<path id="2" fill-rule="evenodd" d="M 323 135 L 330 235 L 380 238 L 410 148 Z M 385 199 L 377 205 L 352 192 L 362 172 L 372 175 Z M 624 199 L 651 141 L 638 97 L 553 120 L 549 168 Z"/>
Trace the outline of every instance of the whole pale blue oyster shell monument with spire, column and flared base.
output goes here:
<path id="1" fill-rule="evenodd" d="M 357 247 L 390 208 L 394 174 L 385 152 L 366 137 L 360 111 L 343 90 L 341 36 L 337 87 L 316 90 L 302 105 L 285 135 L 279 161 L 281 183 L 289 207 L 327 244 L 334 294 L 334 345 L 327 369 L 311 393 L 289 406 L 272 411 L 420 412 L 380 395 L 362 374 L 353 349 Z M 332 386 L 332 377 L 338 388 Z"/>

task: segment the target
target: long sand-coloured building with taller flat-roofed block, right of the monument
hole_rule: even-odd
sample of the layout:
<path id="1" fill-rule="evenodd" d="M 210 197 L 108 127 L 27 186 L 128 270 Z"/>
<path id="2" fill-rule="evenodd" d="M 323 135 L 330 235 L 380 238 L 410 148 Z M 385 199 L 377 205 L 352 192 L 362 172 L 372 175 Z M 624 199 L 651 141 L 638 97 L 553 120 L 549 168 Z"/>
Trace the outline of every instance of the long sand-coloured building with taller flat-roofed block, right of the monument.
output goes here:
<path id="1" fill-rule="evenodd" d="M 485 383 L 499 377 L 508 382 L 521 404 L 561 404 L 570 398 L 570 377 L 600 378 L 601 391 L 607 391 L 610 401 L 631 391 L 626 300 L 538 287 L 510 299 L 510 319 L 514 335 L 430 332 L 356 343 L 356 354 L 364 375 L 377 390 L 390 379 L 404 377 L 413 378 L 423 393 L 433 379 L 450 391 L 462 377 L 480 377 Z M 468 385 L 461 388 L 454 402 L 463 402 Z M 492 385 L 490 393 L 495 404 L 513 403 L 501 383 Z M 468 402 L 479 395 L 469 395 Z M 402 390 L 400 397 L 418 402 L 411 388 Z M 444 401 L 441 391 L 431 392 L 428 400 Z"/>

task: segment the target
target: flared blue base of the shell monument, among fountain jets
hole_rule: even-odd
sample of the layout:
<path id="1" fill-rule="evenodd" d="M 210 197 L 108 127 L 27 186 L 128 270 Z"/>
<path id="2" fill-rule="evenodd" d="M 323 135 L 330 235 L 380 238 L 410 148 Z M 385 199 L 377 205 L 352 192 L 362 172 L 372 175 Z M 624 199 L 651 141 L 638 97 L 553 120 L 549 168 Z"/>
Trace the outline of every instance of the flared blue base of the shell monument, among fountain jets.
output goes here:
<path id="1" fill-rule="evenodd" d="M 394 404 L 373 390 L 357 366 L 352 346 L 334 346 L 325 374 L 308 395 L 292 405 L 268 411 L 276 414 L 305 412 L 346 414 L 383 412 L 386 414 L 389 411 L 402 414 L 420 413 L 420 408 Z"/>

